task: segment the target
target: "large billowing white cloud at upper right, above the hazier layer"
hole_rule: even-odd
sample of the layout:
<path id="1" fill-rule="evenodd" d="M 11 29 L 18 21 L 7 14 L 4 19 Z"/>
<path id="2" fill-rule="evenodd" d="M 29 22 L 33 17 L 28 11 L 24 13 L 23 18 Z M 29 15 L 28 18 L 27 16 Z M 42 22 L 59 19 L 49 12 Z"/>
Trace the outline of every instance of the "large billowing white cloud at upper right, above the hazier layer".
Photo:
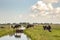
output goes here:
<path id="1" fill-rule="evenodd" d="M 47 1 L 47 0 L 43 0 L 43 1 L 38 1 L 36 4 L 34 4 L 32 6 L 32 10 L 39 10 L 39 13 L 42 15 L 44 14 L 54 14 L 54 13 L 59 13 L 60 12 L 60 7 L 57 7 L 57 8 L 54 8 L 53 5 L 51 3 L 45 3 L 44 1 Z M 52 2 L 55 2 L 55 1 L 58 1 L 58 0 L 48 0 L 49 2 L 52 1 Z M 47 1 L 47 2 L 48 2 Z"/>

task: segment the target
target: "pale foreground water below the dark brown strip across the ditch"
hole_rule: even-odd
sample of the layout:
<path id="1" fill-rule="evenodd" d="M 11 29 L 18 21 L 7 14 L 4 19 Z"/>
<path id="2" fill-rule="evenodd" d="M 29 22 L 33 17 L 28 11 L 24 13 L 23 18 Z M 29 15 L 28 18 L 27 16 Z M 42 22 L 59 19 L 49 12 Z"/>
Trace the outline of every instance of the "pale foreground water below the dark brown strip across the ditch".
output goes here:
<path id="1" fill-rule="evenodd" d="M 13 35 L 0 37 L 0 40 L 30 40 L 30 38 L 24 33 L 15 33 Z"/>

